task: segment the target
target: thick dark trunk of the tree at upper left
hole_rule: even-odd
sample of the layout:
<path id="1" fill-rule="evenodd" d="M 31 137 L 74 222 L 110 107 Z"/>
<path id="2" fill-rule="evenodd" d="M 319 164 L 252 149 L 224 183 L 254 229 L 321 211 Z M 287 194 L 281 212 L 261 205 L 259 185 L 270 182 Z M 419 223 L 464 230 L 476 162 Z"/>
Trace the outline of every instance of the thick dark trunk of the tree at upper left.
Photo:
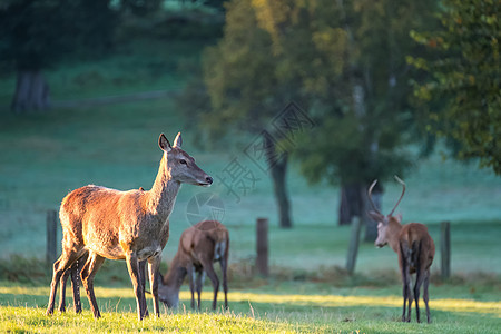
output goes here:
<path id="1" fill-rule="evenodd" d="M 49 85 L 40 71 L 19 70 L 16 92 L 12 98 L 13 112 L 46 110 L 49 107 Z"/>

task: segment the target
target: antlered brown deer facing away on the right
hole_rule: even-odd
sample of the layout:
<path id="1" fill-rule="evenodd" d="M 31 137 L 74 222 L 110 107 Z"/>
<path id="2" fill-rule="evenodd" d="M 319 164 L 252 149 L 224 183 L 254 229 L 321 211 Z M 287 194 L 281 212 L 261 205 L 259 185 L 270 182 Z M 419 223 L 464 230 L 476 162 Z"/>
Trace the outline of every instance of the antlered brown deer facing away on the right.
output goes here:
<path id="1" fill-rule="evenodd" d="M 430 283 L 430 266 L 433 263 L 435 255 L 435 244 L 432 237 L 428 233 L 425 225 L 420 223 L 409 223 L 402 225 L 402 215 L 393 216 L 396 207 L 399 206 L 402 197 L 405 194 L 405 184 L 396 175 L 395 179 L 402 185 L 403 190 L 395 206 L 387 216 L 384 216 L 374 205 L 372 200 L 372 189 L 376 185 L 377 180 L 374 180 L 369 188 L 369 200 L 374 210 L 369 212 L 369 215 L 377 222 L 377 239 L 375 240 L 376 247 L 381 248 L 386 244 L 399 255 L 399 265 L 402 273 L 403 283 L 403 313 L 402 321 L 411 321 L 411 306 L 412 301 L 415 299 L 415 313 L 418 322 L 420 322 L 420 289 L 423 285 L 423 301 L 426 306 L 428 323 L 430 318 L 430 307 L 428 306 L 428 286 Z M 411 289 L 411 275 L 416 274 L 414 289 Z M 405 315 L 405 304 L 409 301 L 407 314 Z"/>

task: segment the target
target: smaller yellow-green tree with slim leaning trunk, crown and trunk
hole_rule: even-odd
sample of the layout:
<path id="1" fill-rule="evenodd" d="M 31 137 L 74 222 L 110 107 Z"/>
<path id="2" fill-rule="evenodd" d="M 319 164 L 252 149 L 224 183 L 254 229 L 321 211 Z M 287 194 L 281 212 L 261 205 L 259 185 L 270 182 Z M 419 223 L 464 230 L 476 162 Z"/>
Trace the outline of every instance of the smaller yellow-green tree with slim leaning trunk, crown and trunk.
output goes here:
<path id="1" fill-rule="evenodd" d="M 278 154 L 281 135 L 265 130 L 287 102 L 298 100 L 297 84 L 281 78 L 281 59 L 274 53 L 269 33 L 259 27 L 252 1 L 229 2 L 224 38 L 203 57 L 212 108 L 191 116 L 198 117 L 200 130 L 212 137 L 242 132 L 259 136 L 258 145 L 264 148 L 274 185 L 279 226 L 289 228 L 293 222 L 286 189 L 288 151 Z"/>

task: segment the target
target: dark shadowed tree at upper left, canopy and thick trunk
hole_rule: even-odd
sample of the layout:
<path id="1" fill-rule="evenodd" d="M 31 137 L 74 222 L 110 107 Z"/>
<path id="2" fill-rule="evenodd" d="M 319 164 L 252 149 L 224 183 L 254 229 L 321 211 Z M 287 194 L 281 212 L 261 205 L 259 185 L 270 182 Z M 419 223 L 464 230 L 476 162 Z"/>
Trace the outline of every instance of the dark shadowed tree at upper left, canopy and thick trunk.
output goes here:
<path id="1" fill-rule="evenodd" d="M 92 55 L 111 41 L 110 1 L 10 0 L 0 7 L 0 61 L 18 73 L 11 108 L 46 109 L 49 85 L 42 70 L 75 55 Z"/>

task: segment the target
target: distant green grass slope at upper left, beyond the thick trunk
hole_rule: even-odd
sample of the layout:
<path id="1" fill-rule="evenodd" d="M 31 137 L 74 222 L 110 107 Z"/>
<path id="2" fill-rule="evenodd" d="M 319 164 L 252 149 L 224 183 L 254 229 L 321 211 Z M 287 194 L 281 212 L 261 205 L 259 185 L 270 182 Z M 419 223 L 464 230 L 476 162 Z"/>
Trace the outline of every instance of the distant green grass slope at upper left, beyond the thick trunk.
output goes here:
<path id="1" fill-rule="evenodd" d="M 97 59 L 68 61 L 42 71 L 53 101 L 180 90 L 197 72 L 200 50 L 214 38 L 146 37 L 121 42 Z M 0 112 L 9 112 L 16 73 L 0 73 Z"/>

